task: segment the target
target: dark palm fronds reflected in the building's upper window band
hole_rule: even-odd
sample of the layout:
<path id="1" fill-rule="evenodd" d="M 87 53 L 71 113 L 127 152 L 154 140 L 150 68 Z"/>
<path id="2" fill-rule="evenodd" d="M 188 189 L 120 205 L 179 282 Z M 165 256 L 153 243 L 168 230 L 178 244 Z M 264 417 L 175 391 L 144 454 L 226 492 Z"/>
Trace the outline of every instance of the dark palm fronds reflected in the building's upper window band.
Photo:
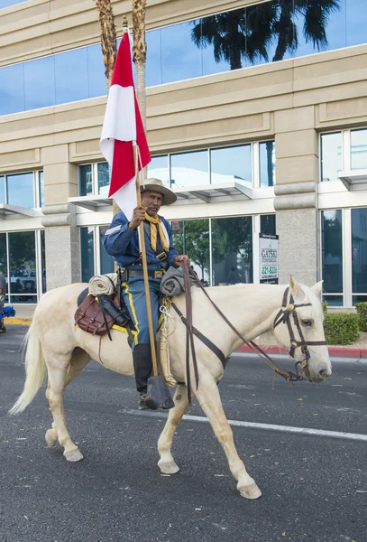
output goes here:
<path id="1" fill-rule="evenodd" d="M 326 25 L 339 4 L 340 0 L 273 0 L 195 21 L 191 38 L 197 47 L 213 45 L 216 62 L 229 62 L 231 70 L 242 68 L 243 59 L 252 64 L 269 61 L 268 48 L 274 39 L 277 46 L 272 61 L 280 61 L 287 51 L 298 48 L 298 16 L 305 19 L 306 42 L 312 42 L 317 51 L 325 49 Z"/>

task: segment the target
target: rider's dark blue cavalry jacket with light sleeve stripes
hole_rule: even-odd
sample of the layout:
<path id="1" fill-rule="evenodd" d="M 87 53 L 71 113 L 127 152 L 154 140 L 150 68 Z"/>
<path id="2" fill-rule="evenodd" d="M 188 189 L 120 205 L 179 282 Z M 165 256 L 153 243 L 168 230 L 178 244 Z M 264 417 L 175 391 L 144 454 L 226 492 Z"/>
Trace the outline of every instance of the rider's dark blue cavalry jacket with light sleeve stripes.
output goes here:
<path id="1" fill-rule="evenodd" d="M 175 257 L 178 255 L 178 252 L 173 248 L 170 223 L 161 217 L 161 215 L 159 215 L 159 218 L 166 227 L 170 237 L 170 250 L 167 253 L 168 262 L 170 266 L 177 267 L 175 264 Z M 131 266 L 139 257 L 138 230 L 130 229 L 128 223 L 124 212 L 121 210 L 115 214 L 114 220 L 112 220 L 102 239 L 107 254 L 114 257 L 116 262 L 122 267 Z M 148 265 L 156 264 L 161 267 L 160 260 L 156 257 L 155 252 L 153 252 L 153 249 L 151 248 L 151 239 L 145 232 L 144 236 Z"/>

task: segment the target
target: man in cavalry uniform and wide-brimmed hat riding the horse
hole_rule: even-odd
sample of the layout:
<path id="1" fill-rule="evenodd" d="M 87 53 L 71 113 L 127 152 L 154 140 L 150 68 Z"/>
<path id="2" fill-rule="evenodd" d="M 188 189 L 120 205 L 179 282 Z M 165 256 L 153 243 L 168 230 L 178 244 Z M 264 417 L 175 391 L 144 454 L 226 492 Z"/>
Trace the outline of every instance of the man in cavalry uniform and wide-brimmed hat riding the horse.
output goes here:
<path id="1" fill-rule="evenodd" d="M 103 238 L 107 253 L 124 267 L 124 303 L 137 331 L 132 349 L 140 409 L 147 408 L 147 380 L 151 376 L 151 344 L 138 239 L 140 223 L 143 221 L 146 236 L 154 337 L 158 325 L 161 278 L 169 266 L 182 267 L 184 260 L 189 263 L 188 256 L 179 255 L 173 247 L 170 223 L 158 214 L 161 205 L 170 205 L 177 200 L 176 194 L 163 186 L 160 179 L 147 179 L 141 192 L 142 205 L 133 210 L 133 219 L 129 222 L 123 211 L 118 212 Z"/>

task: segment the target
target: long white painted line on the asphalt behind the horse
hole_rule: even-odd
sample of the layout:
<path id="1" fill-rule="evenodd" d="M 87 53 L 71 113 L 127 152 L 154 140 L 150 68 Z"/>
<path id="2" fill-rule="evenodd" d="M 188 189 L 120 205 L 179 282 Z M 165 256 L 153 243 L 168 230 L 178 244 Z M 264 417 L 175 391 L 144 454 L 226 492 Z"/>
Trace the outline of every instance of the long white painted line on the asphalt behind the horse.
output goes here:
<path id="1" fill-rule="evenodd" d="M 154 412 L 149 410 L 133 410 L 132 408 L 122 408 L 118 410 L 119 414 L 129 414 L 133 416 L 167 418 L 166 412 Z M 184 415 L 182 419 L 188 422 L 204 422 L 209 423 L 209 420 L 204 416 Z M 290 425 L 272 425 L 272 424 L 257 424 L 254 422 L 242 422 L 238 420 L 228 420 L 229 425 L 234 427 L 251 427 L 252 429 L 262 429 L 264 431 L 280 431 L 280 433 L 296 433 L 298 435 L 312 436 L 327 436 L 330 438 L 343 438 L 346 440 L 367 442 L 367 435 L 359 433 L 343 433 L 340 431 L 326 431 L 324 429 L 311 429 L 309 427 L 292 427 Z"/>

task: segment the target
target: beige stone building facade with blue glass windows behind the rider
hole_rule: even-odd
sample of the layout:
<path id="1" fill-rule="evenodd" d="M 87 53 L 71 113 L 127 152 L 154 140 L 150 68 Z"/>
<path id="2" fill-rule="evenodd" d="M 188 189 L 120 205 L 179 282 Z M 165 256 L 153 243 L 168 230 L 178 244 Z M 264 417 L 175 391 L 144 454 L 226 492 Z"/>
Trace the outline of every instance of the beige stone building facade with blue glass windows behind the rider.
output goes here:
<path id="1" fill-rule="evenodd" d="M 113 2 L 117 33 L 130 1 Z M 152 0 L 149 176 L 207 285 L 280 282 L 367 301 L 367 14 L 363 0 Z M 320 17 L 320 13 L 322 16 Z M 112 270 L 99 151 L 106 80 L 89 0 L 0 0 L 0 265 L 8 302 Z"/>

